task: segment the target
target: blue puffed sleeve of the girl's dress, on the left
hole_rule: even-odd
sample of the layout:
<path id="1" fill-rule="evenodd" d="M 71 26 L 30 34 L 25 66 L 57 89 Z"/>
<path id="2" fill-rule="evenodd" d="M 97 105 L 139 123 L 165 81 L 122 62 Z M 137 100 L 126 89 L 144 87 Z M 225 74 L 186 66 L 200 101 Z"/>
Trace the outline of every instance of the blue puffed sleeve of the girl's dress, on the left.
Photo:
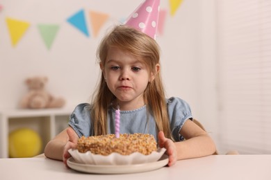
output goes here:
<path id="1" fill-rule="evenodd" d="M 90 104 L 88 103 L 77 105 L 69 117 L 69 126 L 74 129 L 79 137 L 90 136 L 90 129 L 92 128 L 90 122 Z"/>

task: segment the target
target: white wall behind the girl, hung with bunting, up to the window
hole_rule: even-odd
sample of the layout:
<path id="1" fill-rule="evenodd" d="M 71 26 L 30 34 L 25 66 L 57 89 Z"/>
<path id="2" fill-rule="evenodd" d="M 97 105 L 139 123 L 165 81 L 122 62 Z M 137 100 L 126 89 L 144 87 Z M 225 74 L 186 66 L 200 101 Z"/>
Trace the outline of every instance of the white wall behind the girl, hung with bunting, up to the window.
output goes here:
<path id="1" fill-rule="evenodd" d="M 26 93 L 24 80 L 32 75 L 47 75 L 47 89 L 64 96 L 67 107 L 89 101 L 99 75 L 95 51 L 106 30 L 128 17 L 142 0 L 3 0 L 0 12 L 0 109 L 17 108 Z M 98 37 L 85 37 L 67 23 L 67 17 L 83 8 L 110 15 Z M 170 16 L 169 1 L 161 0 L 167 9 L 164 34 L 157 38 L 162 48 L 162 73 L 167 96 L 186 100 L 195 118 L 215 138 L 215 28 L 213 0 L 183 1 Z M 31 23 L 26 35 L 13 48 L 6 17 Z M 87 17 L 88 18 L 88 17 Z M 89 21 L 89 19 L 88 19 Z M 51 50 L 47 50 L 36 24 L 60 24 Z"/>

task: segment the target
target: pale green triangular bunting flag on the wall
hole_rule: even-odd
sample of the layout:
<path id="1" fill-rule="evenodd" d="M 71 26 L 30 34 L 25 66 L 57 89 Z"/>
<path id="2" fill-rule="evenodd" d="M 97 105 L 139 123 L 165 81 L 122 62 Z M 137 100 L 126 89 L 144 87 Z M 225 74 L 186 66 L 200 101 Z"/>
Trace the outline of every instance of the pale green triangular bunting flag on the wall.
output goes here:
<path id="1" fill-rule="evenodd" d="M 59 26 L 56 24 L 38 24 L 38 29 L 40 30 L 40 35 L 45 45 L 50 49 L 56 37 L 56 33 L 58 33 Z"/>

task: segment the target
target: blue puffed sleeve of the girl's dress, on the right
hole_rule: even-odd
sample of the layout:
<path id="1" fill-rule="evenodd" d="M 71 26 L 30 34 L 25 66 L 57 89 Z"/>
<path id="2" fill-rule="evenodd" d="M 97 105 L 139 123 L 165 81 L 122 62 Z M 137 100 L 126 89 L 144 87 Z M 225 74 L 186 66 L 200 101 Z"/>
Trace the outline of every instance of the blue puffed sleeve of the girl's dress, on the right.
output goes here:
<path id="1" fill-rule="evenodd" d="M 172 97 L 167 99 L 167 111 L 174 140 L 183 141 L 184 138 L 180 135 L 180 131 L 186 120 L 192 120 L 190 106 L 181 98 Z"/>

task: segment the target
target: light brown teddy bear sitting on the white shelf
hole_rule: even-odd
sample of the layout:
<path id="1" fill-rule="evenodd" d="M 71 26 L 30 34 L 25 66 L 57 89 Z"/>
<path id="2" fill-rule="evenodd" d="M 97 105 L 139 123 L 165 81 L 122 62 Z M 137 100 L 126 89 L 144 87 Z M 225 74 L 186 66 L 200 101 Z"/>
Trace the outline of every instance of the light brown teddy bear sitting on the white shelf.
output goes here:
<path id="1" fill-rule="evenodd" d="M 28 93 L 20 100 L 19 107 L 23 109 L 59 108 L 65 105 L 63 98 L 55 98 L 44 87 L 48 78 L 35 76 L 27 78 L 25 83 Z"/>

